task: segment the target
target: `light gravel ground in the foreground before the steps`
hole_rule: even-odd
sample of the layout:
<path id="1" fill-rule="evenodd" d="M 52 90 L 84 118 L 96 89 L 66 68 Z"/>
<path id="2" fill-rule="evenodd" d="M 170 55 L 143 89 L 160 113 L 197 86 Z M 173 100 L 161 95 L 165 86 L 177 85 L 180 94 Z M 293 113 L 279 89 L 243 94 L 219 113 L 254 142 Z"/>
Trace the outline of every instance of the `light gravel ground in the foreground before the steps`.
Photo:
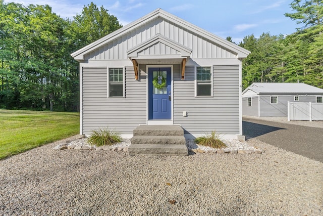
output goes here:
<path id="1" fill-rule="evenodd" d="M 0 160 L 1 215 L 323 213 L 323 163 L 255 139 L 264 154 L 129 157 L 61 142 Z"/>

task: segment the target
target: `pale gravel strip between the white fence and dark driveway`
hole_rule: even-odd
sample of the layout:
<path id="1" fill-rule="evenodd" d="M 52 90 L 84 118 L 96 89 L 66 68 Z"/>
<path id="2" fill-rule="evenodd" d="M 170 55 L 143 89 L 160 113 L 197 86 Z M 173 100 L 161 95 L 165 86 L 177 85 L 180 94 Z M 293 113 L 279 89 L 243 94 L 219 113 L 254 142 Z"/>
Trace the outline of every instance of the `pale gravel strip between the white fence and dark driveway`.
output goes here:
<path id="1" fill-rule="evenodd" d="M 243 118 L 248 119 L 260 119 L 260 120 L 266 120 L 266 121 L 276 121 L 286 124 L 296 124 L 296 125 L 302 125 L 302 126 L 308 126 L 308 127 L 320 127 L 323 128 L 323 121 L 288 121 L 287 117 L 256 117 L 256 116 L 249 116 L 244 115 Z"/>

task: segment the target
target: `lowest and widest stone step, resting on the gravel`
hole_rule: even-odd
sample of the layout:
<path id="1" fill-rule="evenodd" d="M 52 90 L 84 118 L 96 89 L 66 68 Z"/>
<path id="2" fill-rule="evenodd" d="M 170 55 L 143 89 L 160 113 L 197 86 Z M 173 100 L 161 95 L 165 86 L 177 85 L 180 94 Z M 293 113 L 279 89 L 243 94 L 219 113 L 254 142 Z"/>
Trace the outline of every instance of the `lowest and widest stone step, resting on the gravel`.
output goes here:
<path id="1" fill-rule="evenodd" d="M 128 153 L 129 155 L 188 155 L 188 149 L 185 145 L 138 144 L 131 145 Z"/>

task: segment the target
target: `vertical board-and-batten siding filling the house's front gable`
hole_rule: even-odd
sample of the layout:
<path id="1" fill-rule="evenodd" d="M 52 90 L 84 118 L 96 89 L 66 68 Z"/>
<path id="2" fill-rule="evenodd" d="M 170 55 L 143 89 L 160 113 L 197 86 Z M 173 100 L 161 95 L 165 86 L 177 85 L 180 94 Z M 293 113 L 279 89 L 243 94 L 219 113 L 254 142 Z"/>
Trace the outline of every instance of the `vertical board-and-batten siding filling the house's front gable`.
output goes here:
<path id="1" fill-rule="evenodd" d="M 192 49 L 191 58 L 221 59 L 237 58 L 236 54 L 226 50 L 214 42 L 203 38 L 186 28 L 178 26 L 168 20 L 158 17 L 136 29 L 120 35 L 99 49 L 85 56 L 85 60 L 127 60 L 127 50 L 141 44 L 147 39 L 161 34 L 180 45 Z M 174 55 L 176 50 L 164 44 L 153 45 L 144 50 L 140 55 Z"/>

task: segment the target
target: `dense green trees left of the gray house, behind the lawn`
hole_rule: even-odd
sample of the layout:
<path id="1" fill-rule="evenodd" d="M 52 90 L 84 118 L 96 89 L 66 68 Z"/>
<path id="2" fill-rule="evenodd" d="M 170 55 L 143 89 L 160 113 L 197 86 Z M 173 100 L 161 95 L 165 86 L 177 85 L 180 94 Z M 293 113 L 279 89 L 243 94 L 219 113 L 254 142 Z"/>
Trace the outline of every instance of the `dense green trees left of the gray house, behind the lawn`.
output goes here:
<path id="1" fill-rule="evenodd" d="M 0 109 L 79 110 L 79 68 L 70 54 L 122 25 L 91 3 L 73 20 L 48 5 L 0 0 Z"/>

